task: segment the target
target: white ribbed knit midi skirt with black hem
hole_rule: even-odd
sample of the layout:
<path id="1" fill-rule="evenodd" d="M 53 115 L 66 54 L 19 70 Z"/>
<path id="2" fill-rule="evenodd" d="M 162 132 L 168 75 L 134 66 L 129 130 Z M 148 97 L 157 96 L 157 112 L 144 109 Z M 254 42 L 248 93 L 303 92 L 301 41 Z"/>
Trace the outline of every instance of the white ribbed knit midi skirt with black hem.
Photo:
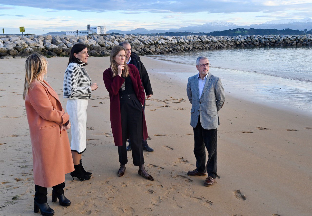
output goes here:
<path id="1" fill-rule="evenodd" d="M 71 151 L 77 151 L 78 154 L 86 149 L 87 107 L 88 99 L 67 100 L 66 111 L 71 122 Z"/>

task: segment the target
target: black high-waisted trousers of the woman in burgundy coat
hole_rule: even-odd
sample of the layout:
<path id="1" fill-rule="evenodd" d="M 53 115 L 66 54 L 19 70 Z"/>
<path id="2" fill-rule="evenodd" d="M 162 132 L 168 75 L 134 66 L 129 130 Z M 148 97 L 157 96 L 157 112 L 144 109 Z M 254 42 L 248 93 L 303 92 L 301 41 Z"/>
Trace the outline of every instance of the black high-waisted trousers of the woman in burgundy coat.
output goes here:
<path id="1" fill-rule="evenodd" d="M 124 96 L 123 98 L 120 99 L 122 146 L 118 146 L 119 163 L 121 165 L 128 163 L 126 144 L 127 137 L 129 137 L 131 140 L 133 164 L 134 166 L 140 166 L 144 164 L 142 148 L 142 105 L 133 94 L 130 99 L 128 99 L 128 96 Z"/>

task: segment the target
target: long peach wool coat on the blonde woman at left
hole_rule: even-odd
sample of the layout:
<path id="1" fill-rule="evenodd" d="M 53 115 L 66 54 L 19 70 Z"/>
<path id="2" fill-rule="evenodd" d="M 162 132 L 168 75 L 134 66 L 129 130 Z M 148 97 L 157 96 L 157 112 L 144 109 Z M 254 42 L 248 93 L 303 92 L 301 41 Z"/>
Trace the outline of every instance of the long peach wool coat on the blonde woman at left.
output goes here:
<path id="1" fill-rule="evenodd" d="M 74 171 L 67 131 L 61 125 L 69 120 L 56 92 L 44 81 L 32 81 L 25 107 L 32 142 L 34 183 L 52 187 Z"/>

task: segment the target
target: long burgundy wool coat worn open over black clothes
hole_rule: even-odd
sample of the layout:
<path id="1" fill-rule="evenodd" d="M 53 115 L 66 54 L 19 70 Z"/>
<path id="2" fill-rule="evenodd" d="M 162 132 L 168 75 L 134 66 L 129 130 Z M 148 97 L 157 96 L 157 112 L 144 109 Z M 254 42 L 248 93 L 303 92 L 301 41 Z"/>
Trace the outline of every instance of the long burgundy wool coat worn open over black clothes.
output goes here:
<path id="1" fill-rule="evenodd" d="M 128 64 L 129 76 L 131 78 L 135 94 L 140 103 L 144 104 L 145 93 L 142 87 L 142 82 L 138 69 L 131 64 Z M 122 133 L 121 133 L 121 114 L 120 114 L 120 101 L 119 101 L 119 89 L 124 83 L 124 78 L 120 76 L 112 77 L 113 72 L 111 68 L 108 68 L 103 73 L 103 80 L 107 91 L 110 93 L 110 125 L 112 127 L 115 146 L 122 146 Z M 143 139 L 147 139 L 147 127 L 145 122 L 145 116 L 142 107 L 143 115 Z M 127 137 L 129 139 L 129 137 Z"/>

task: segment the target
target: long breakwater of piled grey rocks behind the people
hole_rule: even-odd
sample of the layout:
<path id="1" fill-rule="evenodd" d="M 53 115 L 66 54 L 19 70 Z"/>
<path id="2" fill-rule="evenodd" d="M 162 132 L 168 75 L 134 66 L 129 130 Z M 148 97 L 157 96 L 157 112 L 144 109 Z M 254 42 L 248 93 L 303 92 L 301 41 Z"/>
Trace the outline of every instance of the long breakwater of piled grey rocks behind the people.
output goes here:
<path id="1" fill-rule="evenodd" d="M 247 36 L 0 36 L 0 58 L 23 58 L 33 51 L 48 57 L 68 56 L 75 43 L 87 46 L 91 56 L 108 56 L 114 46 L 129 41 L 137 55 L 158 55 L 230 47 L 312 46 L 312 35 L 247 35 Z"/>

